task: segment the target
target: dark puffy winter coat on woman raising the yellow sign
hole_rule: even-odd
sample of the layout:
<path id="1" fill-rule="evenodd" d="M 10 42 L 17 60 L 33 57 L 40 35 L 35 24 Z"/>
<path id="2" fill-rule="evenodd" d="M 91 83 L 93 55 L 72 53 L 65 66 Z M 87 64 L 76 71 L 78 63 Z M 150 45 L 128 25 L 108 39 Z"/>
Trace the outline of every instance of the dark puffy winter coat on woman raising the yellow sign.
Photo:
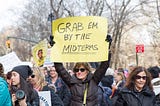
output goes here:
<path id="1" fill-rule="evenodd" d="M 98 106 L 98 84 L 102 77 L 105 75 L 109 62 L 102 62 L 100 67 L 94 74 L 89 73 L 87 78 L 82 81 L 77 79 L 75 75 L 70 74 L 65 70 L 61 63 L 55 63 L 55 68 L 63 81 L 69 86 L 71 91 L 71 105 L 70 106 L 82 106 L 84 91 L 88 84 L 88 92 L 86 98 L 86 106 Z"/>

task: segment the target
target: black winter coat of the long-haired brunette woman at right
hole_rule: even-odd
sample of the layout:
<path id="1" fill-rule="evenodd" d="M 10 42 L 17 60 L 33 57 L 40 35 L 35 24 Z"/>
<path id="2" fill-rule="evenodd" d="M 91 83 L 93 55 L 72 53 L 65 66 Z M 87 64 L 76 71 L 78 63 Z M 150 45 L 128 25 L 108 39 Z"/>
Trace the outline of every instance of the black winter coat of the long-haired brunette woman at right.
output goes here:
<path id="1" fill-rule="evenodd" d="M 148 87 L 141 92 L 125 87 L 118 94 L 115 106 L 155 106 L 155 94 Z"/>

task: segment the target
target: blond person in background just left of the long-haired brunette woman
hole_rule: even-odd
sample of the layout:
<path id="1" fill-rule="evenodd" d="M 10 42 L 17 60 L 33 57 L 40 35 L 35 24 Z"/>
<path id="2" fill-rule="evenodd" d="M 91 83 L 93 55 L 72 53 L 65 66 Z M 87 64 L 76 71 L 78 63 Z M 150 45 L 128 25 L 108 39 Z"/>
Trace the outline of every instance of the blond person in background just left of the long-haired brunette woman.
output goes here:
<path id="1" fill-rule="evenodd" d="M 123 72 L 116 72 L 114 75 L 114 84 L 112 85 L 112 95 L 111 98 L 114 98 L 118 95 L 119 91 L 124 87 L 125 76 Z"/>

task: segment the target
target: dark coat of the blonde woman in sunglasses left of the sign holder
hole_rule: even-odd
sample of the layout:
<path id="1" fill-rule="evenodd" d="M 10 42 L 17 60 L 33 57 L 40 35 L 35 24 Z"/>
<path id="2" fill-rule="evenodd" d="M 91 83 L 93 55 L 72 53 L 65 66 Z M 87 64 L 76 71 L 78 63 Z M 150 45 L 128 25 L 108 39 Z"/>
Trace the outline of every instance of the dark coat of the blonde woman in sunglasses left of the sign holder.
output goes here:
<path id="1" fill-rule="evenodd" d="M 54 90 L 47 85 L 42 88 L 42 91 L 50 91 L 51 93 L 51 104 L 52 106 L 64 106 L 60 97 L 55 94 Z"/>

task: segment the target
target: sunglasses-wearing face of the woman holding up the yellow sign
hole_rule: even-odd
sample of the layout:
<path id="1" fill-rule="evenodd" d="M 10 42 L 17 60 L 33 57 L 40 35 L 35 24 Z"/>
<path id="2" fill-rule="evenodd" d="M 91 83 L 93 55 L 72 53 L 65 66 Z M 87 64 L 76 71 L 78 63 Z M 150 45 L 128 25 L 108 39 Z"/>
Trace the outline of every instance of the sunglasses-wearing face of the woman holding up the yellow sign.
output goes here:
<path id="1" fill-rule="evenodd" d="M 75 72 L 76 77 L 81 80 L 85 80 L 88 75 L 88 70 L 86 70 L 83 66 L 76 68 L 74 72 Z"/>

